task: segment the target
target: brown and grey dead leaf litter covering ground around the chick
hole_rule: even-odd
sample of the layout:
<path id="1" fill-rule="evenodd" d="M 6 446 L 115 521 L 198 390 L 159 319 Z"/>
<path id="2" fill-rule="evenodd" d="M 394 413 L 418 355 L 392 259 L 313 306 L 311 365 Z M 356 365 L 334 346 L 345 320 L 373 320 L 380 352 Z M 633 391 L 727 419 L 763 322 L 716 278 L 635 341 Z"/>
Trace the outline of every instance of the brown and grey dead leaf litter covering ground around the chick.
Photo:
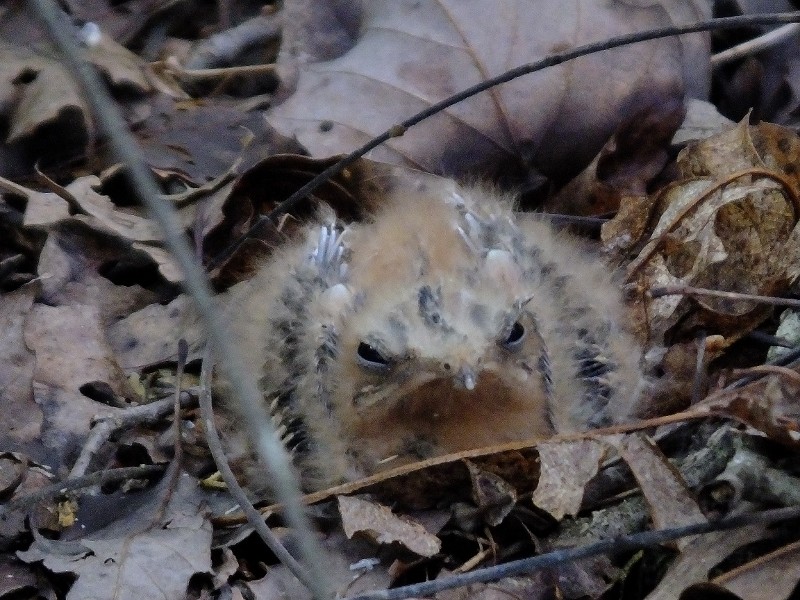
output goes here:
<path id="1" fill-rule="evenodd" d="M 573 14 L 554 3 L 542 9 L 544 16 L 536 15 L 535 23 L 527 23 L 532 15 L 520 12 L 522 5 L 504 7 L 489 23 L 476 19 L 471 11 L 477 9 L 466 5 L 375 3 L 358 15 L 348 13 L 342 30 L 331 30 L 328 42 L 315 44 L 304 38 L 315 31 L 309 26 L 314 11 L 301 2 L 287 4 L 286 14 L 302 18 L 286 29 L 278 59 L 282 87 L 265 116 L 213 95 L 197 102 L 187 102 L 188 93 L 180 99 L 166 96 L 159 90 L 174 90 L 174 85 L 151 85 L 160 75 L 135 53 L 105 36 L 104 45 L 94 49 L 108 84 L 126 90 L 119 102 L 145 142 L 165 197 L 199 190 L 181 211 L 207 263 L 258 215 L 330 164 L 331 155 L 351 150 L 451 92 L 534 60 L 557 46 L 564 31 L 579 38 L 570 43 L 584 43 L 653 27 L 663 23 L 659 19 L 681 23 L 705 16 L 700 3 L 662 2 L 661 12 L 637 7 L 626 12 L 626 19 L 605 4 L 585 2 L 584 10 Z M 342 10 L 335 3 L 326 8 L 334 14 Z M 104 9 L 98 15 L 109 30 L 123 30 L 120 25 L 131 19 L 111 6 Z M 558 19 L 546 17 L 553 10 L 559 11 Z M 571 20 L 561 18 L 565 15 Z M 360 29 L 352 25 L 359 21 Z M 564 23 L 564 31 L 542 29 L 548 22 Z M 495 29 L 484 27 L 489 24 Z M 129 31 L 139 32 L 133 39 L 148 35 L 147 27 Z M 525 43 L 526 35 L 536 44 Z M 686 52 L 682 58 L 676 52 L 680 44 Z M 649 294 L 669 286 L 775 296 L 793 292 L 800 265 L 794 169 L 800 141 L 791 130 L 763 122 L 742 121 L 721 130 L 724 121 L 708 112 L 698 119 L 690 111 L 694 120 L 678 129 L 683 118 L 678 99 L 695 85 L 689 82 L 704 88 L 709 68 L 705 38 L 680 44 L 667 40 L 545 71 L 530 78 L 536 82 L 534 95 L 527 93 L 530 82 L 524 87 L 516 82 L 477 96 L 371 156 L 404 166 L 362 160 L 318 192 L 317 199 L 339 214 L 360 218 L 368 212 L 365 207 L 380 201 L 383 182 L 402 180 L 409 164 L 450 175 L 493 175 L 504 165 L 512 179 L 525 164 L 551 177 L 554 189 L 563 188 L 546 194 L 549 210 L 618 211 L 604 225 L 603 242 L 627 265 L 639 315 L 635 328 L 649 343 L 672 352 L 673 364 L 702 365 L 700 390 L 706 396 L 685 417 L 656 417 L 646 429 L 638 425 L 439 457 L 310 495 L 340 595 L 441 578 L 646 527 L 797 502 L 782 491 L 791 490 L 796 477 L 791 466 L 800 431 L 796 368 L 740 373 L 722 361 L 711 362 L 729 358 L 734 344 L 743 344 L 756 327 L 769 328 L 774 310 L 748 299 Z M 433 49 L 445 46 L 449 54 L 437 51 L 431 59 Z M 614 90 L 598 85 L 598 76 L 607 78 L 609 69 L 625 71 L 620 65 L 643 48 L 650 57 L 645 62 L 656 72 L 653 79 L 628 70 L 630 79 Z M 4 497 L 13 500 L 64 478 L 96 418 L 153 400 L 157 390 L 136 385 L 136 378 L 174 364 L 181 337 L 189 341 L 190 361 L 196 360 L 204 334 L 175 285 L 179 276 L 158 228 L 131 201 L 124 184 L 110 171 L 104 176 L 114 165 L 102 144 L 82 167 L 63 162 L 62 151 L 81 157 L 97 140 L 61 63 L 46 52 L 7 45 L 0 53 L 6 59 L 3 77 L 18 92 L 14 103 L 2 105 L 10 123 L 4 152 L 13 160 L 0 173 L 6 178 L 0 220 L 9 233 L 0 241 L 0 267 L 5 261 L 12 265 L 0 271 L 0 380 L 7 424 L 0 439 L 1 449 L 17 451 L 9 455 L 13 460 L 0 461 L 0 476 L 7 482 Z M 286 75 L 291 69 L 294 80 Z M 46 89 L 41 98 L 40 86 Z M 601 90 L 606 95 L 598 98 Z M 694 93 L 705 95 L 704 89 Z M 590 110 L 587 98 L 605 110 Z M 632 104 L 650 108 L 626 119 Z M 167 125 L 159 125 L 159 119 Z M 267 122 L 278 131 L 257 125 Z M 54 126 L 75 142 L 43 151 Z M 242 127 L 255 133 L 258 144 L 247 144 Z M 689 138 L 703 139 L 681 141 L 689 131 Z M 296 136 L 314 158 L 274 156 L 298 149 L 281 134 Z M 672 157 L 681 146 L 671 143 L 682 146 L 676 160 Z M 33 156 L 49 162 L 36 165 Z M 202 188 L 237 159 L 244 160 L 232 185 Z M 42 166 L 56 174 L 46 185 L 32 179 Z M 236 282 L 246 285 L 252 264 L 290 238 L 295 220 L 313 210 L 306 206 L 277 227 L 265 228 L 235 259 L 218 266 L 221 294 Z M 701 329 L 713 344 L 694 342 Z M 738 366 L 757 364 L 751 359 Z M 665 382 L 669 410 L 688 408 L 697 374 L 665 372 L 672 379 Z M 737 381 L 740 375 L 749 379 Z M 664 414 L 658 406 L 650 409 L 651 416 Z M 199 421 L 191 410 L 179 420 L 184 440 L 202 439 L 195 435 Z M 167 435 L 169 419 L 161 423 L 107 441 L 91 457 L 93 470 L 165 462 L 175 440 Z M 5 581 L 4 590 L 52 594 L 52 587 L 61 586 L 56 597 L 74 598 L 112 593 L 177 598 L 187 592 L 303 597 L 293 576 L 272 564 L 247 525 L 232 529 L 236 519 L 226 516 L 233 509 L 227 494 L 197 487 L 209 463 L 201 442 L 195 443 L 198 447 L 186 443 L 190 456 L 177 479 L 165 476 L 148 487 L 142 478 L 138 485 L 104 485 L 95 487 L 94 495 L 70 496 L 77 502 L 77 521 L 70 516 L 73 504 L 59 504 L 58 498 L 30 509 L 29 522 L 19 512 L 4 513 L 2 569 L 17 586 Z M 276 509 L 268 508 L 267 514 L 280 530 Z M 285 532 L 287 541 L 290 537 Z M 754 542 L 767 547 L 741 552 Z M 650 582 L 634 592 L 639 597 L 678 596 L 706 585 L 759 598 L 767 581 L 774 582 L 770 593 L 788 597 L 797 585 L 796 545 L 780 528 L 750 526 L 635 556 L 584 560 L 496 584 L 473 584 L 437 597 L 557 593 L 601 598 L 623 585 L 630 589 L 635 580 Z M 661 572 L 651 565 L 665 560 L 670 566 Z M 56 574 L 69 576 L 67 590 Z"/>

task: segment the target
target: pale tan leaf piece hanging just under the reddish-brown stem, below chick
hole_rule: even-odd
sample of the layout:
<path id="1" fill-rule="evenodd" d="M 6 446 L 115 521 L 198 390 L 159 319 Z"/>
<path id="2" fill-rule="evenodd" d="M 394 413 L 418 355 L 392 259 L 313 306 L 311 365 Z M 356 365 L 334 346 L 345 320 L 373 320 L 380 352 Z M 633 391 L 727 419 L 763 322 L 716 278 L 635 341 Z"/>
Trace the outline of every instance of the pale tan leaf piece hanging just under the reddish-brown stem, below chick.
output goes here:
<path id="1" fill-rule="evenodd" d="M 597 474 L 606 445 L 598 440 L 545 442 L 537 446 L 541 461 L 533 503 L 560 521 L 581 507 L 584 488 Z"/>

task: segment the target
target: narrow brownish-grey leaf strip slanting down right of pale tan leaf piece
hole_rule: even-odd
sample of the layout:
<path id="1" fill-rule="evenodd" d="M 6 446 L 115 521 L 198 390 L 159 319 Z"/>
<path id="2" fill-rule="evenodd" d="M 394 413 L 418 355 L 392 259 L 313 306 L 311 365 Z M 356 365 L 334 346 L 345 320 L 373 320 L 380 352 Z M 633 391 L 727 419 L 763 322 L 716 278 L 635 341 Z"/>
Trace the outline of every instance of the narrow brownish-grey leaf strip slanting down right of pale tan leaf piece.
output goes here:
<path id="1" fill-rule="evenodd" d="M 617 447 L 636 477 L 656 529 L 706 520 L 681 474 L 654 443 L 642 435 L 630 434 Z M 676 544 L 684 548 L 691 539 L 681 538 Z"/>

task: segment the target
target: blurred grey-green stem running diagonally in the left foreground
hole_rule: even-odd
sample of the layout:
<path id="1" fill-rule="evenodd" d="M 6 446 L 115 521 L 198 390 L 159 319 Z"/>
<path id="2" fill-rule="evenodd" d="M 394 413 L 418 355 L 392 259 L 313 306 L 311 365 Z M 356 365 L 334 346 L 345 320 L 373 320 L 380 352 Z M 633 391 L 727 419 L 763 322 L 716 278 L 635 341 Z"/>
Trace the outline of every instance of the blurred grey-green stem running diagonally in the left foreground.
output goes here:
<path id="1" fill-rule="evenodd" d="M 272 475 L 275 494 L 284 502 L 286 520 L 297 532 L 300 553 L 311 572 L 311 593 L 320 600 L 328 598 L 330 586 L 324 569 L 326 561 L 299 502 L 300 486 L 289 457 L 266 414 L 255 374 L 250 373 L 245 366 L 238 347 L 219 316 L 211 286 L 184 237 L 177 213 L 159 198 L 160 190 L 152 173 L 142 159 L 133 136 L 126 128 L 125 120 L 102 80 L 84 59 L 75 28 L 69 19 L 53 0 L 29 0 L 29 3 L 63 53 L 67 65 L 86 94 L 98 125 L 108 137 L 114 154 L 126 165 L 126 174 L 139 200 L 147 206 L 149 213 L 161 227 L 165 244 L 183 273 L 184 287 L 208 331 L 215 354 L 221 357 L 222 367 L 231 382 L 233 397 L 238 401 L 239 410 L 244 417 L 243 422 L 255 443 L 259 457 Z"/>

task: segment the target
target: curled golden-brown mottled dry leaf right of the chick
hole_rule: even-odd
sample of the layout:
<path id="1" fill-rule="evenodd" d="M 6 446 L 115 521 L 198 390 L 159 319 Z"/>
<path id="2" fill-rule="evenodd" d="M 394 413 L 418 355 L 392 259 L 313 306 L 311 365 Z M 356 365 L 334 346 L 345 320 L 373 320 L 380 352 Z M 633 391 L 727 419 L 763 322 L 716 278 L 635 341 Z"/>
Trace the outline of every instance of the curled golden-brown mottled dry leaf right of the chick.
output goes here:
<path id="1" fill-rule="evenodd" d="M 798 276 L 800 186 L 791 175 L 800 146 L 774 125 L 735 128 L 691 144 L 678 157 L 681 179 L 638 207 L 623 207 L 604 228 L 612 248 L 633 247 L 628 276 L 640 289 L 685 285 L 780 294 Z M 633 229 L 635 227 L 635 229 Z M 666 295 L 647 302 L 655 341 L 679 321 L 702 326 L 731 343 L 769 309 L 748 300 Z"/>

